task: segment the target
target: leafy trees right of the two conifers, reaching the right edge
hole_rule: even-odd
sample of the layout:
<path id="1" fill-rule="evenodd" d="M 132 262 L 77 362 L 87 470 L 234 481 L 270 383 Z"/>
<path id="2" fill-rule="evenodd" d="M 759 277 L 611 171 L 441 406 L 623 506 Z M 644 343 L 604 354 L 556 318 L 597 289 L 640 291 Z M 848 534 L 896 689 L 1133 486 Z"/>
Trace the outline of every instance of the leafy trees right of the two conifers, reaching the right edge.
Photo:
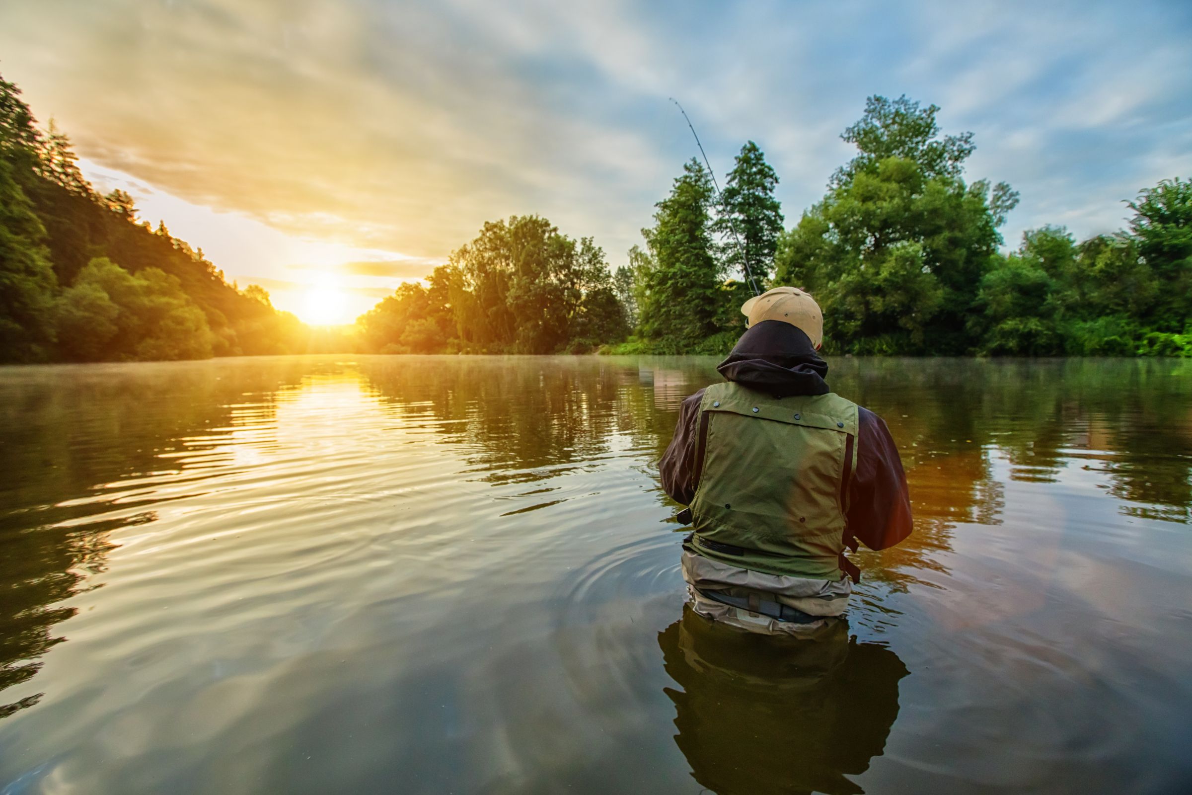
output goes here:
<path id="1" fill-rule="evenodd" d="M 870 98 L 843 136 L 859 154 L 778 241 L 775 284 L 815 294 L 830 350 L 1192 355 L 1192 184 L 1143 190 L 1128 230 L 1001 254 L 1018 195 L 964 182 L 971 133 L 939 137 L 937 110 Z"/>

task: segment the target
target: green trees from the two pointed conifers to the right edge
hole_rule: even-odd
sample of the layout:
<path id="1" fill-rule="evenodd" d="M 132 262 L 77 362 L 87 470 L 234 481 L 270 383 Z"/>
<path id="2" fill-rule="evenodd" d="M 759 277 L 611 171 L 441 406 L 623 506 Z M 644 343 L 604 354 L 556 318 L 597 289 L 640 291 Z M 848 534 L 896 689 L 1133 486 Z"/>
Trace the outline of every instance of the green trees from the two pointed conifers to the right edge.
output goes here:
<path id="1" fill-rule="evenodd" d="M 966 182 L 973 136 L 942 136 L 938 110 L 906 97 L 869 98 L 842 136 L 857 156 L 777 236 L 774 284 L 813 292 L 828 352 L 1188 355 L 1192 184 L 1165 180 L 1142 191 L 1130 203 L 1128 232 L 1078 244 L 1067 230 L 1045 226 L 1002 254 L 998 228 L 1018 194 L 1005 182 Z M 720 280 L 739 266 L 730 221 L 764 253 L 781 218 L 770 192 L 776 181 L 747 143 L 710 224 L 718 244 L 707 234 L 707 178 L 697 163 L 687 166 L 645 231 L 648 253 L 634 248 L 620 277 L 632 278 L 632 290 L 620 290 L 640 317 L 639 336 L 616 352 L 727 347 L 750 296 Z"/>

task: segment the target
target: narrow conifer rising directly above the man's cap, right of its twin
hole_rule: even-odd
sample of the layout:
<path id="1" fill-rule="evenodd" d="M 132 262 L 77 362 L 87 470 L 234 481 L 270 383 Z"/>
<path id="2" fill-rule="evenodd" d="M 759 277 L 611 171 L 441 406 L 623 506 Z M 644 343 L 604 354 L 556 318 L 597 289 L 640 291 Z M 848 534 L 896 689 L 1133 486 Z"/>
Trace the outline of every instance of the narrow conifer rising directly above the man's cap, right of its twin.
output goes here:
<path id="1" fill-rule="evenodd" d="M 751 275 L 758 286 L 770 278 L 778 235 L 782 234 L 782 205 L 774 198 L 778 175 L 752 141 L 741 147 L 733 170 L 720 193 L 713 229 L 726 241 L 724 267 Z"/>

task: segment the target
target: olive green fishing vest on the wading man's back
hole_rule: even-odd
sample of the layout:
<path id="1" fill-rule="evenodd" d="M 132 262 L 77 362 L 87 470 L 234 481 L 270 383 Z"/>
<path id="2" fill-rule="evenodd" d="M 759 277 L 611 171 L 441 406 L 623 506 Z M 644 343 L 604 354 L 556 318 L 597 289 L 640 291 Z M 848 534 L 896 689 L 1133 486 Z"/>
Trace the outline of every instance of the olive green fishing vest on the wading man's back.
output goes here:
<path id="1" fill-rule="evenodd" d="M 857 405 L 714 384 L 700 423 L 690 548 L 769 574 L 840 579 Z"/>

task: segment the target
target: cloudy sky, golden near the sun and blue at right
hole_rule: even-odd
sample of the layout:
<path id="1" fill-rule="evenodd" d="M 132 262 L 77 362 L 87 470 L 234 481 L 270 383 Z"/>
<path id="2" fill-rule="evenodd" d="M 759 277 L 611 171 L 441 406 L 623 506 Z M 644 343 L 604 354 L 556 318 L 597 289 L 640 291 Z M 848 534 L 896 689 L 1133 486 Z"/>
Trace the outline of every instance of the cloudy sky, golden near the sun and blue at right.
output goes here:
<path id="1" fill-rule="evenodd" d="M 871 94 L 974 132 L 1010 246 L 1192 173 L 1186 1 L 0 0 L 0 74 L 98 186 L 319 323 L 510 215 L 623 265 L 697 154 L 671 97 L 721 179 L 757 142 L 788 225 Z"/>

